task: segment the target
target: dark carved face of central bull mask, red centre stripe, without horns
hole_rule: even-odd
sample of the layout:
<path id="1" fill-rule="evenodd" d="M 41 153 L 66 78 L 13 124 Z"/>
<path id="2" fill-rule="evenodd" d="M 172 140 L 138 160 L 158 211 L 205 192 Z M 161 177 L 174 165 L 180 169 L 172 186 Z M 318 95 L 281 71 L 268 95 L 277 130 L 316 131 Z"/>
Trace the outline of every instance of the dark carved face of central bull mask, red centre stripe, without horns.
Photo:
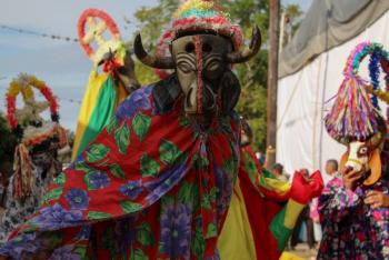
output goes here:
<path id="1" fill-rule="evenodd" d="M 171 52 L 188 114 L 217 110 L 220 79 L 229 70 L 223 57 L 231 50 L 227 39 L 211 34 L 187 36 L 172 42 Z"/>

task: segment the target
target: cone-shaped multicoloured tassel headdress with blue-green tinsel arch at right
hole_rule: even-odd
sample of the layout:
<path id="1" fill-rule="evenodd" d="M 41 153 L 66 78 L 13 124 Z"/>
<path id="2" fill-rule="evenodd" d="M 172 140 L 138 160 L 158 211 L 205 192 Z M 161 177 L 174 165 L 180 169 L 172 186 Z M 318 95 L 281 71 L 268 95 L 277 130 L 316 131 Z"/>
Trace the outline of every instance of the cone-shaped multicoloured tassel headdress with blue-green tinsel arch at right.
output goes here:
<path id="1" fill-rule="evenodd" d="M 369 72 L 371 82 L 363 80 L 358 70 L 361 61 L 370 54 Z M 379 62 L 388 60 L 381 44 L 362 42 L 351 52 L 343 70 L 345 79 L 338 90 L 326 129 L 338 142 L 366 141 L 379 131 L 380 113 L 378 102 L 367 93 L 367 87 L 379 87 Z"/>

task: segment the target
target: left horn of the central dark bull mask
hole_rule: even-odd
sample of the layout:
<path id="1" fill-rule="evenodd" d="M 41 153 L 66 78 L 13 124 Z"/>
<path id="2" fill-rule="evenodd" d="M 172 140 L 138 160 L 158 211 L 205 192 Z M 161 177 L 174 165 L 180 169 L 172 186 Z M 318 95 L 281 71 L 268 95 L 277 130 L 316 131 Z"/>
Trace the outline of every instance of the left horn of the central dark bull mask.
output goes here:
<path id="1" fill-rule="evenodd" d="M 157 58 L 154 56 L 149 54 L 144 50 L 140 33 L 138 33 L 136 37 L 136 40 L 133 42 L 133 50 L 138 59 L 146 66 L 162 70 L 174 69 L 174 62 L 171 57 Z"/>

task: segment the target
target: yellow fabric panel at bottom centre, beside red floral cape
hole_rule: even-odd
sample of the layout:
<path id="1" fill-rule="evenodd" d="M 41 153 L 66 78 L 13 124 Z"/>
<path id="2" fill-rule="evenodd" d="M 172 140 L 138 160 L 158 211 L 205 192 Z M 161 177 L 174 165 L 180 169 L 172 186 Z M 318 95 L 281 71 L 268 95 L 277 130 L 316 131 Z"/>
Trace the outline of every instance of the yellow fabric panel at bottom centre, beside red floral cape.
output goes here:
<path id="1" fill-rule="evenodd" d="M 221 260 L 257 259 L 239 179 L 233 188 L 230 208 L 218 240 L 218 249 Z"/>

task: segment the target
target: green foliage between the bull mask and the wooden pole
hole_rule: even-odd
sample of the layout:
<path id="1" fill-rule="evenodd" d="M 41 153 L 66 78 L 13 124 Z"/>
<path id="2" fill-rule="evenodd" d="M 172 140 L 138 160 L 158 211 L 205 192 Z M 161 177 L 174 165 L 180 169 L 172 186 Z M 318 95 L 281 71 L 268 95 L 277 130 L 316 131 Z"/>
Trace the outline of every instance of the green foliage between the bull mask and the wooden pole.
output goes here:
<path id="1" fill-rule="evenodd" d="M 267 67 L 269 28 L 269 1 L 225 0 L 220 1 L 230 13 L 231 20 L 243 30 L 245 39 L 251 39 L 251 31 L 258 26 L 262 36 L 262 48 L 258 56 L 247 63 L 236 66 L 241 83 L 238 112 L 248 120 L 255 133 L 255 150 L 266 150 Z M 247 42 L 248 43 L 248 42 Z"/>

